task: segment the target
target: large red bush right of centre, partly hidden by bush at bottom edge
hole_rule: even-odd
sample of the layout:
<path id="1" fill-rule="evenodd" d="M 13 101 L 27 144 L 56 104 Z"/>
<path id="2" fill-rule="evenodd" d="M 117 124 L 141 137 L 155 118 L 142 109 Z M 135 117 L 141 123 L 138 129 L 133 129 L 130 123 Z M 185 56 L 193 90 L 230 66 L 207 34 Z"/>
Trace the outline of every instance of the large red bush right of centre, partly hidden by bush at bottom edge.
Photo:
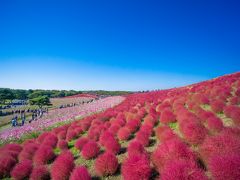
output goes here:
<path id="1" fill-rule="evenodd" d="M 152 153 L 151 159 L 160 172 L 169 161 L 180 159 L 195 161 L 196 156 L 185 143 L 172 139 L 160 144 Z"/>

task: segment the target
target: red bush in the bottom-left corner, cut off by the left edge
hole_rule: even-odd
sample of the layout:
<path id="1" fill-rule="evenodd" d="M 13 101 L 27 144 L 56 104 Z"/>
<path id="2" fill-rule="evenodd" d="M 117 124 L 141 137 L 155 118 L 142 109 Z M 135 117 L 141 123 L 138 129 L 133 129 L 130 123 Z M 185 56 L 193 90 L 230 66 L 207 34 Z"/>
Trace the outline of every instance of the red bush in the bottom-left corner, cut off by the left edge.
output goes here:
<path id="1" fill-rule="evenodd" d="M 16 163 L 16 159 L 10 155 L 0 156 L 0 178 L 8 177 Z"/>

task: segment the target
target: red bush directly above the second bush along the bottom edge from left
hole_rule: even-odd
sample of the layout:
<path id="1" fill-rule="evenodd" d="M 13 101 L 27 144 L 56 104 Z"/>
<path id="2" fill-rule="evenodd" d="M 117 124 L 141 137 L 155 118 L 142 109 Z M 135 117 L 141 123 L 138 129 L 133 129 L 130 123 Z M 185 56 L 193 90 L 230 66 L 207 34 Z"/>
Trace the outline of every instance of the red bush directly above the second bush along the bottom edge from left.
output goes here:
<path id="1" fill-rule="evenodd" d="M 32 160 L 35 152 L 37 151 L 39 145 L 36 143 L 28 143 L 25 146 L 23 146 L 23 150 L 18 155 L 18 160 L 22 161 L 25 159 Z"/>

